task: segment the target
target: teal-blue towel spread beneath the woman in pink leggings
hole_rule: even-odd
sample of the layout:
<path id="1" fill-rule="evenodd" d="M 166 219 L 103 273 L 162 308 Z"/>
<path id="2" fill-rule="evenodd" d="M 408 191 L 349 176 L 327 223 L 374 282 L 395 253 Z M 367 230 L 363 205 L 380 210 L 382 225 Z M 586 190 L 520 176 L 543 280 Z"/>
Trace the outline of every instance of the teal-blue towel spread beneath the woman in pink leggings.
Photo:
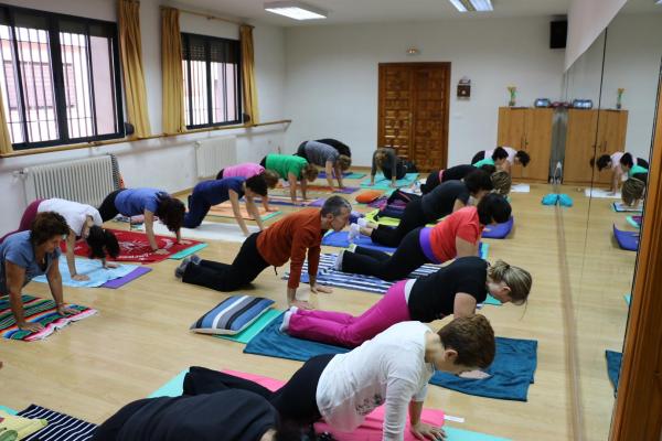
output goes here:
<path id="1" fill-rule="evenodd" d="M 280 332 L 282 316 L 274 320 L 244 348 L 246 354 L 306 362 L 321 354 L 343 354 L 344 347 L 295 338 Z M 496 337 L 496 358 L 485 372 L 485 379 L 468 379 L 437 372 L 430 383 L 479 397 L 526 401 L 537 363 L 537 342 Z"/>

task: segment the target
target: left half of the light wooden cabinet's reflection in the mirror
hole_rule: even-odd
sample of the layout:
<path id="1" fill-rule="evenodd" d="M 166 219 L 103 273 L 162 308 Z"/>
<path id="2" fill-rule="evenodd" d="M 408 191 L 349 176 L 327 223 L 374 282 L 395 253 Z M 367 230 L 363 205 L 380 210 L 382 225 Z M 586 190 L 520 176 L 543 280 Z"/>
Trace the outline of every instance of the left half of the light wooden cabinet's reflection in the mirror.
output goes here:
<path id="1" fill-rule="evenodd" d="M 598 178 L 598 169 L 594 173 L 590 168 L 590 160 L 596 154 L 597 136 L 597 110 L 568 109 L 564 184 L 590 184 L 594 175 Z"/>

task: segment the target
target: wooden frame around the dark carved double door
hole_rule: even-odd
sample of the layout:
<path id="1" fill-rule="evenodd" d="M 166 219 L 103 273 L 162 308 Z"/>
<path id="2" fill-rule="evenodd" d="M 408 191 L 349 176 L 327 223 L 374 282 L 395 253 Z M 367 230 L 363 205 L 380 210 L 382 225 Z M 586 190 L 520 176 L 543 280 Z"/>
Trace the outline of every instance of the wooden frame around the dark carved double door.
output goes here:
<path id="1" fill-rule="evenodd" d="M 380 146 L 380 139 L 383 138 L 383 130 L 384 128 L 381 125 L 381 118 L 384 111 L 384 99 L 382 99 L 382 77 L 383 77 L 383 72 L 385 68 L 387 67 L 431 67 L 431 66 L 438 66 L 438 67 L 446 67 L 448 69 L 448 75 L 446 76 L 446 84 L 445 84 L 445 89 L 446 89 L 446 96 L 444 97 L 444 115 L 446 117 L 446 121 L 444 125 L 444 130 L 441 133 L 441 163 L 439 164 L 439 166 L 441 169 L 446 169 L 448 166 L 448 131 L 449 131 L 449 125 L 450 125 L 450 76 L 451 76 L 451 63 L 450 62 L 417 62 L 417 63 L 380 63 L 378 64 L 378 72 L 377 72 L 377 140 L 375 142 L 375 149 L 378 149 L 380 147 L 384 147 L 384 146 Z M 409 96 L 414 97 L 414 83 L 412 82 L 412 84 L 409 85 L 410 90 L 409 90 Z M 410 98 L 412 99 L 412 98 Z M 409 123 L 409 149 L 412 149 L 413 146 L 413 141 L 414 141 L 414 127 L 416 123 L 416 120 L 414 118 L 414 111 L 410 112 L 412 114 L 412 121 Z M 412 153 L 412 150 L 409 150 L 409 155 Z"/>

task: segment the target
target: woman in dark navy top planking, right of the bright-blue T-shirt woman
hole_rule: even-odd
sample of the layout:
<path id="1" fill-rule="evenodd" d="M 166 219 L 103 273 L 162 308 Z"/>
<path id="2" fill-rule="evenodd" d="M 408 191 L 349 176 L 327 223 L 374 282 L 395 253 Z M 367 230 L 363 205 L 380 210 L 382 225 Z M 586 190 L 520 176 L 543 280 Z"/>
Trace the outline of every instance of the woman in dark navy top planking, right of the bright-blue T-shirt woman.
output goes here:
<path id="1" fill-rule="evenodd" d="M 244 178 L 224 178 L 221 180 L 203 181 L 193 187 L 189 196 L 189 212 L 184 215 L 185 228 L 196 228 L 202 224 L 204 216 L 214 205 L 229 201 L 235 220 L 242 228 L 244 236 L 248 236 L 248 227 L 242 215 L 239 198 L 246 198 L 246 211 L 253 216 L 259 229 L 264 229 L 259 211 L 253 198 L 255 196 L 267 196 L 267 183 L 264 176 L 256 175 L 245 180 Z"/>

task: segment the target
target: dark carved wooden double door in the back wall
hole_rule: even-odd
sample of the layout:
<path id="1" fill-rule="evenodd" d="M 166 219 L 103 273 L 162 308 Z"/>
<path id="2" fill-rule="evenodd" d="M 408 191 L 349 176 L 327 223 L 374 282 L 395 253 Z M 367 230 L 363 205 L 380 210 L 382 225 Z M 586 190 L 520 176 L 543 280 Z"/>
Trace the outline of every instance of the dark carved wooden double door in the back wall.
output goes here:
<path id="1" fill-rule="evenodd" d="M 380 64 L 377 147 L 393 147 L 420 171 L 448 160 L 450 63 Z"/>

